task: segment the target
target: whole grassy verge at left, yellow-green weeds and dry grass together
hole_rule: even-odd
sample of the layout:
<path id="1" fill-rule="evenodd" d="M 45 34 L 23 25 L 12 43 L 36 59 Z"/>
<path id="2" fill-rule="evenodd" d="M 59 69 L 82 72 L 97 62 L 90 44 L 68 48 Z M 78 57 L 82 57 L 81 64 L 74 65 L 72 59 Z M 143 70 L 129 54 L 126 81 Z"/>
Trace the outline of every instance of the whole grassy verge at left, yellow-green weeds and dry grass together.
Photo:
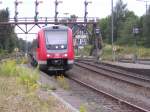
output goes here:
<path id="1" fill-rule="evenodd" d="M 0 112 L 69 112 L 55 98 L 41 91 L 38 70 L 16 61 L 0 65 Z"/>

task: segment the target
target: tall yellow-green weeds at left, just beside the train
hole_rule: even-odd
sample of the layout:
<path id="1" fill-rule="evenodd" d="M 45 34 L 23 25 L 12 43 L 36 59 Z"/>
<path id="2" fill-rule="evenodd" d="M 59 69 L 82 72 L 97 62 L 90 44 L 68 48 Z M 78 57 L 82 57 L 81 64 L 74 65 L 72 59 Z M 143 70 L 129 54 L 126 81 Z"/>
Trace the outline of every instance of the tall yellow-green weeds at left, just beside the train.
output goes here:
<path id="1" fill-rule="evenodd" d="M 7 60 L 0 65 L 0 76 L 16 77 L 17 81 L 28 89 L 38 87 L 37 80 L 39 79 L 38 69 L 32 70 L 27 67 L 19 66 L 16 60 Z"/>

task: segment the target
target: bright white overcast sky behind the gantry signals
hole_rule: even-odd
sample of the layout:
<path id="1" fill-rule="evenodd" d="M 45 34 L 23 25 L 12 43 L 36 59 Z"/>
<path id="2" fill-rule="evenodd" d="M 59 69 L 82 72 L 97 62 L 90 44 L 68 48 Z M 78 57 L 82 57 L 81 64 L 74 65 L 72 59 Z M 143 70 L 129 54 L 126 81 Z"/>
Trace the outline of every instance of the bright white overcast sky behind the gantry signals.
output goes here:
<path id="1" fill-rule="evenodd" d="M 15 0 L 0 0 L 0 9 L 9 8 L 10 16 L 14 17 L 14 1 Z M 18 0 L 19 1 L 19 0 Z M 18 5 L 18 17 L 34 17 L 35 15 L 35 0 L 20 0 L 23 3 Z M 54 17 L 54 1 L 55 0 L 42 0 L 43 3 L 39 5 L 39 17 Z M 59 1 L 59 0 L 58 0 Z M 85 0 L 61 0 L 63 3 L 58 5 L 58 17 L 66 17 L 75 14 L 78 17 L 84 16 L 84 1 Z M 104 18 L 111 14 L 111 0 L 87 0 L 92 3 L 88 5 L 88 17 Z M 114 6 L 117 0 L 114 0 Z M 136 15 L 142 16 L 145 13 L 145 2 L 137 0 L 123 0 L 127 3 L 127 8 L 134 11 Z M 69 13 L 65 15 L 64 13 Z M 19 31 L 19 29 L 16 29 Z M 36 31 L 36 30 L 34 30 Z M 29 35 L 28 35 L 29 36 Z M 31 36 L 31 35 L 30 35 Z M 32 35 L 32 37 L 35 35 Z M 23 37 L 24 35 L 19 35 Z M 28 40 L 30 40 L 28 38 Z"/>

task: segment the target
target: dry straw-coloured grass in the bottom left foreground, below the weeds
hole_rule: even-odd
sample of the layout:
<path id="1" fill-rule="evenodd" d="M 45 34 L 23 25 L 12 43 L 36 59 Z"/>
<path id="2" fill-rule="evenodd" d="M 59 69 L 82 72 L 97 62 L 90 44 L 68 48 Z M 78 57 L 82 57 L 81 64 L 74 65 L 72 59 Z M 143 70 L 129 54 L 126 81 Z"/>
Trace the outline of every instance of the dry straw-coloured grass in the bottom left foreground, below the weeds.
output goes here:
<path id="1" fill-rule="evenodd" d="M 26 88 L 14 77 L 0 76 L 0 112 L 68 112 L 53 96 Z"/>

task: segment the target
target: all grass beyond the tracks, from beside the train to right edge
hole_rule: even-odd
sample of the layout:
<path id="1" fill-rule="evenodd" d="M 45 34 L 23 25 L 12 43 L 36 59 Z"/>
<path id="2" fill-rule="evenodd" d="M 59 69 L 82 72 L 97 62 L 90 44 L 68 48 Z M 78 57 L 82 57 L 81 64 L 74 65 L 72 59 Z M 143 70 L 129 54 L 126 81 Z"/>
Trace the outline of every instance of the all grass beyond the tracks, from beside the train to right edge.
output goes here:
<path id="1" fill-rule="evenodd" d="M 119 46 L 119 45 L 114 45 L 116 47 L 115 51 L 115 58 L 125 58 L 125 57 L 134 57 L 135 54 L 137 54 L 138 58 L 150 58 L 150 48 L 144 48 L 137 46 Z M 90 51 L 91 51 L 92 46 L 91 45 L 86 45 L 84 46 L 83 49 L 78 50 L 78 55 L 79 56 L 89 56 Z M 77 50 L 75 50 L 75 53 L 77 55 Z M 101 55 L 102 60 L 112 60 L 112 46 L 109 44 L 105 44 L 102 49 L 102 55 Z"/>

